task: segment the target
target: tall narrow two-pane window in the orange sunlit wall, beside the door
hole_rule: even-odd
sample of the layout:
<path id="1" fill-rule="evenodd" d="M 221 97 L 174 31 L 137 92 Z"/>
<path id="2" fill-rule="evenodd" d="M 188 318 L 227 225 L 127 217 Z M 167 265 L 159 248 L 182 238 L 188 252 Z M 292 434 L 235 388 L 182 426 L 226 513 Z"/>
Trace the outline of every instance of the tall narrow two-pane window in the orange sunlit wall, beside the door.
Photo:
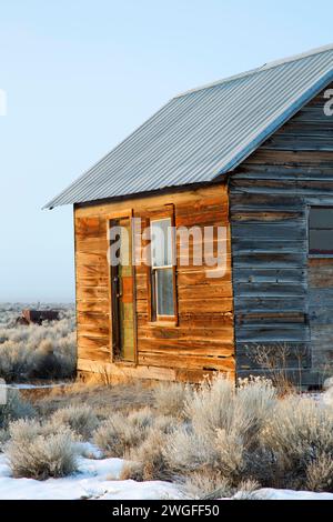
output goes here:
<path id="1" fill-rule="evenodd" d="M 152 320 L 175 317 L 174 233 L 171 218 L 151 220 Z"/>

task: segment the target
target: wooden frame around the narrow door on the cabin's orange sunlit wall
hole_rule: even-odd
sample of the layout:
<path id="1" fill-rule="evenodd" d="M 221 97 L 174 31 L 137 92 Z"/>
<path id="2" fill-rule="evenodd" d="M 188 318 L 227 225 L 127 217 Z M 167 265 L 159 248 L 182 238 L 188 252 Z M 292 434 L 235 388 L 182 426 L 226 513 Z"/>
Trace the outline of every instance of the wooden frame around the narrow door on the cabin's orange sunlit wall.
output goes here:
<path id="1" fill-rule="evenodd" d="M 107 248 L 109 250 L 110 241 L 109 241 L 109 227 L 110 221 L 129 218 L 132 220 L 133 218 L 133 209 L 120 210 L 108 213 L 107 219 Z M 131 223 L 131 252 L 134 252 L 134 231 Z M 135 267 L 133 264 L 133 255 L 132 255 L 132 279 L 133 279 L 133 340 L 134 340 L 134 357 L 133 361 L 125 361 L 118 358 L 114 354 L 113 350 L 113 341 L 114 341 L 114 329 L 113 329 L 113 283 L 112 283 L 112 267 L 110 267 L 108 261 L 108 294 L 109 294 L 109 345 L 110 345 L 110 359 L 112 363 L 115 364 L 124 364 L 124 365 L 138 365 L 138 321 L 137 321 L 137 280 L 135 280 Z M 118 333 L 119 334 L 119 333 Z"/>

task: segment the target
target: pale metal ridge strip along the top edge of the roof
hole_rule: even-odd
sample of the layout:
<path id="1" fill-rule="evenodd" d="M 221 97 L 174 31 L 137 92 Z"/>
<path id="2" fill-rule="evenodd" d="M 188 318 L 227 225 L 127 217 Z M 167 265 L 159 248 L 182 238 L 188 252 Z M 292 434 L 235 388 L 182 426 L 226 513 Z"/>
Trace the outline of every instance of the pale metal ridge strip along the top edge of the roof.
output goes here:
<path id="1" fill-rule="evenodd" d="M 327 51 L 333 51 L 333 43 L 329 43 L 327 46 L 323 46 L 323 47 L 317 47 L 317 48 L 311 49 L 310 51 L 302 52 L 299 54 L 293 54 L 291 57 L 286 57 L 283 59 L 273 60 L 271 62 L 264 63 L 263 66 L 256 67 L 254 69 L 250 69 L 249 71 L 240 72 L 238 74 L 232 74 L 231 77 L 223 78 L 222 80 L 216 80 L 216 81 L 205 83 L 200 87 L 194 87 L 193 89 L 188 89 L 186 91 L 175 94 L 173 98 L 182 98 L 183 96 L 191 94 L 192 92 L 202 91 L 204 89 L 211 89 L 212 87 L 218 87 L 223 83 L 229 83 L 230 81 L 245 78 L 248 76 L 254 74 L 255 72 L 265 71 L 268 69 L 273 69 L 274 67 L 282 66 L 283 63 L 290 63 L 293 61 L 302 60 L 304 58 L 309 58 L 314 54 L 321 54 L 322 52 L 327 52 Z"/>

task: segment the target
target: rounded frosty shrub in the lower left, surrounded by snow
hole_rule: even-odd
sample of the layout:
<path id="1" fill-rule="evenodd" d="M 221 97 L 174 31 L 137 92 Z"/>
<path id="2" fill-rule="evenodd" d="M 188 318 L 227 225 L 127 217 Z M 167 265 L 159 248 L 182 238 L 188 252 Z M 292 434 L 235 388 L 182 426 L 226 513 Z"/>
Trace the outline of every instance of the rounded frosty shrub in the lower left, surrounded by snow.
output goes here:
<path id="1" fill-rule="evenodd" d="M 67 429 L 56 433 L 50 424 L 19 420 L 9 431 L 6 454 L 13 476 L 44 480 L 77 471 L 77 450 Z"/>

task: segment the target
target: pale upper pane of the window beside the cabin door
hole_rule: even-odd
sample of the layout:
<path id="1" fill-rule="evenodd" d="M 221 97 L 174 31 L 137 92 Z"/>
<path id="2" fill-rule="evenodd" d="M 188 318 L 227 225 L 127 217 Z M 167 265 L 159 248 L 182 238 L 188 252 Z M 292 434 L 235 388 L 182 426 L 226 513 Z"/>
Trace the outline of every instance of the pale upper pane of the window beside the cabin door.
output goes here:
<path id="1" fill-rule="evenodd" d="M 151 222 L 151 258 L 153 267 L 172 264 L 171 219 Z"/>

